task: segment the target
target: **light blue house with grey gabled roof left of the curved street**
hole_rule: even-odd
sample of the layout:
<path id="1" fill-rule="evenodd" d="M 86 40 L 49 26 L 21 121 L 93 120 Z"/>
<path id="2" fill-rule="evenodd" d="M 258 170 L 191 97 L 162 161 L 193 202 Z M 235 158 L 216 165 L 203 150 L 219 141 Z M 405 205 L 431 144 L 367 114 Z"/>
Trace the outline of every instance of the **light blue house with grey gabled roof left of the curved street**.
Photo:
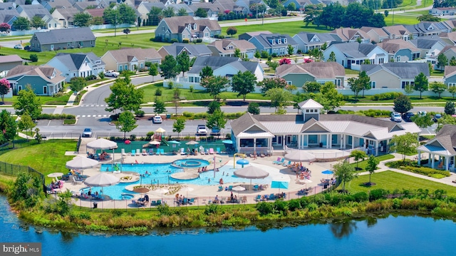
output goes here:
<path id="1" fill-rule="evenodd" d="M 105 71 L 105 63 L 94 53 L 58 53 L 46 65 L 61 71 L 67 82 L 73 77 L 98 76 Z"/>

